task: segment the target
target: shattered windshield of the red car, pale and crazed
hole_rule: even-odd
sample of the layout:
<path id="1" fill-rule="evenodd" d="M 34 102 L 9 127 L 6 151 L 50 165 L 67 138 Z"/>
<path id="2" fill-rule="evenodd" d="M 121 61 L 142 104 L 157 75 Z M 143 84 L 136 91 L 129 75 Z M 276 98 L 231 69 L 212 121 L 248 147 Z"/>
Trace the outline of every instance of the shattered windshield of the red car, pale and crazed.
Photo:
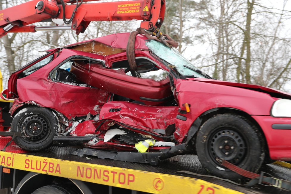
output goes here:
<path id="1" fill-rule="evenodd" d="M 184 58 L 176 48 L 169 48 L 156 40 L 146 41 L 145 45 L 162 60 L 174 65 L 181 75 L 207 78 L 189 60 Z"/>

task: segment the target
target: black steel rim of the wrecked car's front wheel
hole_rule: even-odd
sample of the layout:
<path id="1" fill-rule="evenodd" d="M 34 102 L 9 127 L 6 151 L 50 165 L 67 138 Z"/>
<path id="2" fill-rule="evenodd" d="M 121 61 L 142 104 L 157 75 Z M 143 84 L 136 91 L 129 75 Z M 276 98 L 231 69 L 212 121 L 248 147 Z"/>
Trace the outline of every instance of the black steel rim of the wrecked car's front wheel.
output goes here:
<path id="1" fill-rule="evenodd" d="M 245 137 L 233 126 L 219 126 L 213 129 L 208 141 L 208 153 L 211 159 L 220 165 L 216 159 L 225 159 L 240 166 L 246 159 L 248 145 Z"/>

